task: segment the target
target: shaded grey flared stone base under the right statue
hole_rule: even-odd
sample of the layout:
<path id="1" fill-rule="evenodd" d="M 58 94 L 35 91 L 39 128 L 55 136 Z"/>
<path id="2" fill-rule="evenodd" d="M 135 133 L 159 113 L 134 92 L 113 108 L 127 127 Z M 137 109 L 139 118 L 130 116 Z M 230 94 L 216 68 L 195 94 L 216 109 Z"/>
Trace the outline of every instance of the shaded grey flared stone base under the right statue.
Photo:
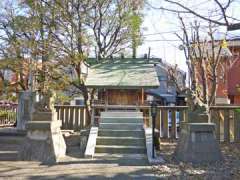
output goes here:
<path id="1" fill-rule="evenodd" d="M 181 134 L 175 150 L 179 161 L 212 163 L 222 160 L 219 144 L 215 138 L 213 123 L 182 123 Z"/>

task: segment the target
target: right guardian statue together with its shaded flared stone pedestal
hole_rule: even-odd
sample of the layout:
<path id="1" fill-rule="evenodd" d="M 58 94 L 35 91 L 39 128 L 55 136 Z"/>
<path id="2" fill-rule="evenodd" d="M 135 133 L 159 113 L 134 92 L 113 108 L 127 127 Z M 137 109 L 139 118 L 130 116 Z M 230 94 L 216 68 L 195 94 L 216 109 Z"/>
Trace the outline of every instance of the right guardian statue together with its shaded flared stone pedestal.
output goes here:
<path id="1" fill-rule="evenodd" d="M 215 124 L 209 123 L 207 107 L 193 93 L 188 94 L 188 122 L 182 122 L 175 150 L 179 161 L 211 163 L 222 160 L 215 137 Z"/>

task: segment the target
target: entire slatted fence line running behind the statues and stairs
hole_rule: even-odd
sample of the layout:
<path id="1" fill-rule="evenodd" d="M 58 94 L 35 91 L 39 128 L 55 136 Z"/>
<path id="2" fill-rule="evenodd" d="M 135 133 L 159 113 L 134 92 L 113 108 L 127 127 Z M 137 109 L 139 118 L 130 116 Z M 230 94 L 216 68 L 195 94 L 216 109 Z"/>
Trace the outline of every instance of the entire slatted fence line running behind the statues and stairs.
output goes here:
<path id="1" fill-rule="evenodd" d="M 151 126 L 150 106 L 93 105 L 91 122 L 84 106 L 56 105 L 57 118 L 62 120 L 62 129 L 78 131 L 91 124 L 98 124 L 100 112 L 105 110 L 139 110 L 143 112 L 146 126 Z M 187 121 L 187 106 L 158 106 L 156 129 L 163 138 L 177 138 L 180 122 Z M 16 122 L 17 105 L 0 105 L 0 126 Z M 216 138 L 219 141 L 240 141 L 240 106 L 212 106 L 211 122 L 216 124 Z"/>

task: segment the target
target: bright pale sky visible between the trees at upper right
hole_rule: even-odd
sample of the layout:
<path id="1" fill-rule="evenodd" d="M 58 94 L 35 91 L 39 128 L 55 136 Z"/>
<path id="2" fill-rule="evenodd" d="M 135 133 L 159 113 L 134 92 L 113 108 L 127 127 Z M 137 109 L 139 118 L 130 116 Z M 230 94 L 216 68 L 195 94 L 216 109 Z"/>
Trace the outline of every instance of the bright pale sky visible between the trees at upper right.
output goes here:
<path id="1" fill-rule="evenodd" d="M 226 1 L 222 0 L 220 2 L 225 3 Z M 149 0 L 149 3 L 155 7 L 167 6 L 168 8 L 175 8 L 173 5 L 169 6 L 169 4 L 164 3 L 163 0 Z M 208 14 L 209 16 L 214 14 L 209 12 L 209 10 L 215 8 L 211 0 L 181 0 L 181 3 L 184 3 L 202 14 Z M 236 0 L 236 3 L 229 8 L 228 14 L 240 19 L 239 0 Z M 178 64 L 181 69 L 186 71 L 183 51 L 178 49 L 179 45 L 181 45 L 181 41 L 178 41 L 178 38 L 174 34 L 175 32 L 181 33 L 177 15 L 161 10 L 154 10 L 149 7 L 146 7 L 144 15 L 144 43 L 138 48 L 138 55 L 142 56 L 144 53 L 147 53 L 148 47 L 151 47 L 152 56 L 162 58 L 171 64 Z M 192 15 L 184 14 L 183 17 L 186 22 L 193 22 L 196 20 Z M 205 30 L 205 32 L 206 31 L 207 30 Z M 225 33 L 226 28 L 219 28 L 218 31 Z M 240 33 L 240 31 L 237 33 Z M 217 34 L 219 35 L 221 33 Z M 221 35 L 221 37 L 224 37 L 224 35 Z"/>

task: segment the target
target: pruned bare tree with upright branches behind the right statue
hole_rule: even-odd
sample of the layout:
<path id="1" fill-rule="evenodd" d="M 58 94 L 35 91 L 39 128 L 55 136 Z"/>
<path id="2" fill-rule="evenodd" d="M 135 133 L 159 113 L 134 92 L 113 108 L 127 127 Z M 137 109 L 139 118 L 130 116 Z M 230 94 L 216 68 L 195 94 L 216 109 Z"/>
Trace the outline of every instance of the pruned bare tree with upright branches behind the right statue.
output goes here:
<path id="1" fill-rule="evenodd" d="M 192 24 L 190 31 L 186 29 L 183 18 L 179 17 L 183 35 L 176 34 L 182 41 L 182 48 L 187 59 L 190 86 L 189 89 L 207 107 L 215 104 L 219 73 L 224 58 L 231 56 L 224 41 L 214 39 L 214 29 L 209 23 L 208 32 L 203 38 L 200 35 L 200 24 Z M 176 78 L 175 71 L 171 72 Z M 186 90 L 186 89 L 184 89 Z M 208 109 L 209 110 L 209 109 Z"/>

